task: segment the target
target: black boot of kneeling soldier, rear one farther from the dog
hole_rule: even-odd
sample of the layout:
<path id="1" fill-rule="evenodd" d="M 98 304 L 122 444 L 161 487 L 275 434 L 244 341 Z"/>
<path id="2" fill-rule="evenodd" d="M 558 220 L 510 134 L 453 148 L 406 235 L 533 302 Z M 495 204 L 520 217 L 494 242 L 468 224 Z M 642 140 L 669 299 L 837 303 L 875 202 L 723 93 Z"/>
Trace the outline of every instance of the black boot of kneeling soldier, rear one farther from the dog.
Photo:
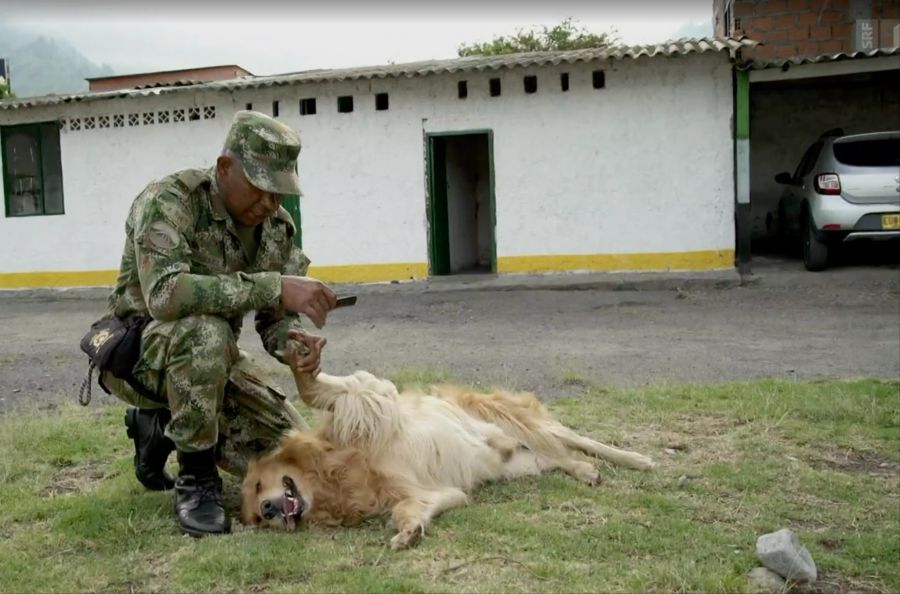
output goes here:
<path id="1" fill-rule="evenodd" d="M 125 412 L 128 437 L 134 440 L 134 474 L 151 491 L 175 488 L 166 460 L 175 444 L 163 433 L 172 413 L 167 408 L 129 408 Z"/>

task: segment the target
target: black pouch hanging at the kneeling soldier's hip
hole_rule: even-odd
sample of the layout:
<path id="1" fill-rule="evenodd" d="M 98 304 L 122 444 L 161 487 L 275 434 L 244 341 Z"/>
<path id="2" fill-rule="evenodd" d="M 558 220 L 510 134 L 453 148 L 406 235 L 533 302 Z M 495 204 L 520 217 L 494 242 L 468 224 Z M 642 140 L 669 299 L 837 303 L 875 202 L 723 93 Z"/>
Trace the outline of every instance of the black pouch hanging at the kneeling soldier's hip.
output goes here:
<path id="1" fill-rule="evenodd" d="M 95 368 L 101 371 L 97 383 L 107 394 L 110 391 L 103 385 L 103 371 L 125 380 L 141 396 L 165 404 L 156 394 L 137 381 L 132 373 L 138 357 L 141 356 L 141 333 L 151 319 L 149 316 L 107 317 L 94 322 L 81 339 L 81 350 L 90 359 L 88 375 L 78 394 L 78 401 L 81 404 L 87 405 L 91 401 L 91 374 Z M 86 399 L 85 389 L 87 389 Z"/>

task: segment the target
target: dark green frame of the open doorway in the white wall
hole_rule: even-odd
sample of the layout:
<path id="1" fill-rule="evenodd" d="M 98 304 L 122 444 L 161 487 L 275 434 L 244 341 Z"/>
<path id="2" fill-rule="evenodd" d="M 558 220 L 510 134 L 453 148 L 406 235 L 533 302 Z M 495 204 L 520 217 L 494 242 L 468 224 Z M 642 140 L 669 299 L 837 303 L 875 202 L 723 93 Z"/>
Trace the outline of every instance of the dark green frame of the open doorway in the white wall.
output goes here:
<path id="1" fill-rule="evenodd" d="M 428 210 L 428 267 L 433 276 L 450 274 L 450 227 L 447 219 L 447 160 L 437 138 L 483 135 L 488 142 L 488 200 L 491 216 L 491 272 L 497 272 L 497 204 L 494 193 L 494 131 L 488 128 L 452 132 L 426 132 L 426 190 Z"/>

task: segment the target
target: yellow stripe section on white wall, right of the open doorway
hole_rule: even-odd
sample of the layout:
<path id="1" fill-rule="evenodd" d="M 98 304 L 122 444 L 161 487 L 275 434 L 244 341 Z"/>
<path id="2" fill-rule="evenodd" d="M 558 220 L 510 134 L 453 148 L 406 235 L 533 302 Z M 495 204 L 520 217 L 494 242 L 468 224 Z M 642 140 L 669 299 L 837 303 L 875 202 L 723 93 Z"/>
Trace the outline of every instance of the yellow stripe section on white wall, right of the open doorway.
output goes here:
<path id="1" fill-rule="evenodd" d="M 715 270 L 732 267 L 734 267 L 734 250 L 644 254 L 563 254 L 497 258 L 498 272 Z"/>

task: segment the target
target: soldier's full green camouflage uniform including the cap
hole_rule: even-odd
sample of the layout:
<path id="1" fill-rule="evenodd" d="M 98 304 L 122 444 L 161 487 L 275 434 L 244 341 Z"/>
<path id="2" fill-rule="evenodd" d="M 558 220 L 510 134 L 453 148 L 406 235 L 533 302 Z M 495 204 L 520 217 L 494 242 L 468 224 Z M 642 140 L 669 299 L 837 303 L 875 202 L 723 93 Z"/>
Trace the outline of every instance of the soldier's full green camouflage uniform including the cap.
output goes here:
<path id="1" fill-rule="evenodd" d="M 260 139 L 260 130 L 270 136 L 271 130 L 255 129 L 254 115 L 238 113 L 225 148 L 241 157 L 254 186 L 299 194 L 299 138 L 285 126 L 285 138 Z M 287 149 L 257 151 L 273 141 Z M 235 474 L 243 474 L 247 459 L 274 446 L 285 430 L 305 427 L 284 394 L 237 347 L 249 311 L 257 312 L 256 330 L 272 356 L 284 348 L 288 330 L 300 328 L 297 315 L 280 307 L 281 276 L 305 275 L 309 260 L 294 245 L 296 229 L 283 208 L 260 228 L 251 260 L 217 189 L 215 168 L 153 182 L 131 206 L 109 298 L 110 315 L 153 318 L 142 334 L 134 376 L 168 402 L 166 435 L 184 452 L 218 445 L 219 465 Z M 164 406 L 108 372 L 103 379 L 135 406 Z"/>

